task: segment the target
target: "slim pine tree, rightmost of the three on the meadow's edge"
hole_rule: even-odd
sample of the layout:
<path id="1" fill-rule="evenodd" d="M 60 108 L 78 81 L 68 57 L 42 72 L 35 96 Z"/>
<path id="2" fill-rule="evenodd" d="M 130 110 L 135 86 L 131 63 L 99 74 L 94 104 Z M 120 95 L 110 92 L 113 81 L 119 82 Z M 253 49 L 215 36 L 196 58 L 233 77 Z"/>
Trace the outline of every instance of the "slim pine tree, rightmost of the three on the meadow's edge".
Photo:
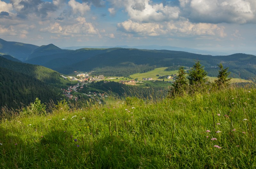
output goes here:
<path id="1" fill-rule="evenodd" d="M 214 82 L 219 88 L 227 87 L 229 85 L 229 81 L 231 80 L 231 78 L 228 78 L 230 72 L 228 72 L 228 68 L 224 69 L 221 63 L 218 66 L 220 68 L 219 75 L 218 79 L 214 80 Z"/>

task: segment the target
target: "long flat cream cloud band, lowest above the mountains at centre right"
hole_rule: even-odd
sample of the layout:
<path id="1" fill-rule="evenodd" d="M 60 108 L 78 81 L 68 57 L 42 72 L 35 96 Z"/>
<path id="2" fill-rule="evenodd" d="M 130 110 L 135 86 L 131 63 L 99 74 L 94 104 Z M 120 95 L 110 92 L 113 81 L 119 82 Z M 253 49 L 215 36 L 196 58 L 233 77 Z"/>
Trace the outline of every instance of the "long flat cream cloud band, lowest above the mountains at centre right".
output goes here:
<path id="1" fill-rule="evenodd" d="M 139 23 L 127 20 L 117 24 L 117 28 L 125 33 L 139 34 L 140 36 L 218 36 L 225 37 L 223 26 L 216 24 L 193 24 L 188 20 L 159 23 Z"/>

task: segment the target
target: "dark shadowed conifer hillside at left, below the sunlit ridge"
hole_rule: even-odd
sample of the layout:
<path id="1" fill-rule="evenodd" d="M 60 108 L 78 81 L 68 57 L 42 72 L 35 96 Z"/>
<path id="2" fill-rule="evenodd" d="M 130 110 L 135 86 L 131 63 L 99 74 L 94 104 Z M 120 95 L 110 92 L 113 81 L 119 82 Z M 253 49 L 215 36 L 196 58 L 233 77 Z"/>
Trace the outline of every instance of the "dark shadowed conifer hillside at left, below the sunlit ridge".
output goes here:
<path id="1" fill-rule="evenodd" d="M 18 108 L 36 98 L 42 102 L 57 102 L 60 89 L 47 85 L 34 77 L 0 67 L 0 107 Z"/>

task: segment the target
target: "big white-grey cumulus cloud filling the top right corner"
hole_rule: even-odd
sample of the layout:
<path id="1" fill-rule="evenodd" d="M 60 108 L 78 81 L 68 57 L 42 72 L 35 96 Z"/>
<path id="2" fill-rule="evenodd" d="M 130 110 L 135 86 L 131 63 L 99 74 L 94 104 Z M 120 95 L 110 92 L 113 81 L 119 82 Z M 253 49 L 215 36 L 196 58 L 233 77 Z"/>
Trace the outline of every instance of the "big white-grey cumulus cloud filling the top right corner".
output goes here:
<path id="1" fill-rule="evenodd" d="M 244 24 L 255 18 L 253 0 L 180 0 L 180 6 L 192 22 Z"/>

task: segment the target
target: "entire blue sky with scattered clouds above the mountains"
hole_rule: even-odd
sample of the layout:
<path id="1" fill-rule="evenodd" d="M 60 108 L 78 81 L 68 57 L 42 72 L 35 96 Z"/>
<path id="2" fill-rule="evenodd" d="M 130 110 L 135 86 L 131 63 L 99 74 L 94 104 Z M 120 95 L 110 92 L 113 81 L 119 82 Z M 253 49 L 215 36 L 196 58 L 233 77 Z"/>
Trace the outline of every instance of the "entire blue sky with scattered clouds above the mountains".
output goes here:
<path id="1" fill-rule="evenodd" d="M 0 0 L 0 38 L 256 53 L 255 0 Z"/>

